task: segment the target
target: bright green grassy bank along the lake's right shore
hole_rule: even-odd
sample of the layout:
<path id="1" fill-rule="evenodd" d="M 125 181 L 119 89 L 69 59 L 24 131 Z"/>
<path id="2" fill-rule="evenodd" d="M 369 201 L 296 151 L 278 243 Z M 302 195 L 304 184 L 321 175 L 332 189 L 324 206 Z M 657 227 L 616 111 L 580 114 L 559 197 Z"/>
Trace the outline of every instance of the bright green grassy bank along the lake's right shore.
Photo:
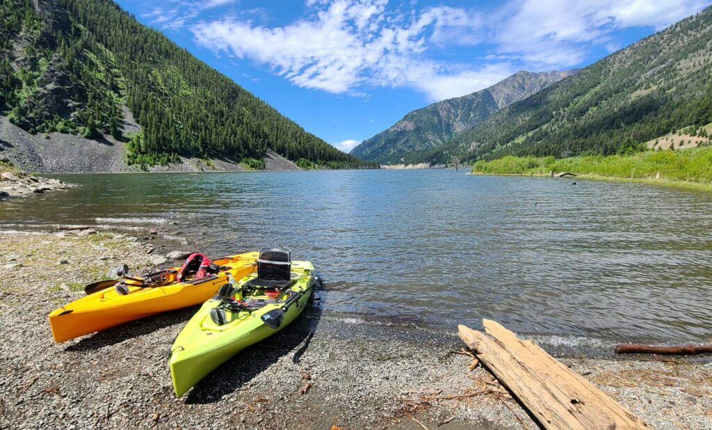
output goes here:
<path id="1" fill-rule="evenodd" d="M 574 172 L 585 177 L 624 179 L 668 185 L 689 184 L 712 190 L 712 147 L 677 151 L 644 151 L 630 155 L 503 157 L 473 164 L 475 174 L 550 174 Z"/>

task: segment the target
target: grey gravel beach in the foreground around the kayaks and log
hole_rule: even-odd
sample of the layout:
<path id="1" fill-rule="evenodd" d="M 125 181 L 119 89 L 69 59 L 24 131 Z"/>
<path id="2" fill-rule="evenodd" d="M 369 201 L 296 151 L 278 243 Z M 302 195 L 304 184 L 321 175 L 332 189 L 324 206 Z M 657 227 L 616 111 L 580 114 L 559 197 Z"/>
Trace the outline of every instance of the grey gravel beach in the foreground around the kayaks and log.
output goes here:
<path id="1" fill-rule="evenodd" d="M 150 235 L 150 233 L 148 234 Z M 177 264 L 125 234 L 0 231 L 2 429 L 536 429 L 455 330 L 330 312 L 325 290 L 293 324 L 176 399 L 169 346 L 197 310 L 63 344 L 47 314 L 128 263 Z M 712 428 L 712 367 L 699 361 L 558 357 L 655 429 Z"/>

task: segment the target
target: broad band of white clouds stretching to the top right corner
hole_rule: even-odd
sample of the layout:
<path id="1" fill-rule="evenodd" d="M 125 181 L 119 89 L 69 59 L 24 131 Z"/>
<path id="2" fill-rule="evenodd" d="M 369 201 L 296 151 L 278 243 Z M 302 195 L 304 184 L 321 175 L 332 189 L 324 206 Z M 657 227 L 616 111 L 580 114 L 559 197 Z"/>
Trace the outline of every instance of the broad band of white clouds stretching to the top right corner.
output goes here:
<path id="1" fill-rule="evenodd" d="M 619 28 L 663 28 L 710 3 L 511 0 L 483 14 L 446 6 L 394 10 L 387 0 L 305 0 L 308 14 L 285 26 L 227 16 L 189 28 L 201 46 L 267 65 L 303 88 L 363 95 L 372 87 L 408 87 L 441 100 L 520 68 L 578 65 L 592 46 L 616 46 L 612 34 Z M 452 46 L 480 46 L 488 55 L 434 59 L 434 51 Z"/>

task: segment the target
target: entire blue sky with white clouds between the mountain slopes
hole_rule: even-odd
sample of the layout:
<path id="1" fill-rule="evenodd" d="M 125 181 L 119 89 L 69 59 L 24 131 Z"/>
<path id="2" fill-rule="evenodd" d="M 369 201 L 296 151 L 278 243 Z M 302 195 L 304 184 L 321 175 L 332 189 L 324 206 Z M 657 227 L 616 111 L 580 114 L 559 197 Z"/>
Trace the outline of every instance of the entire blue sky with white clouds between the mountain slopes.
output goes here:
<path id="1" fill-rule="evenodd" d="M 118 0 L 348 151 L 518 70 L 577 68 L 712 0 Z"/>

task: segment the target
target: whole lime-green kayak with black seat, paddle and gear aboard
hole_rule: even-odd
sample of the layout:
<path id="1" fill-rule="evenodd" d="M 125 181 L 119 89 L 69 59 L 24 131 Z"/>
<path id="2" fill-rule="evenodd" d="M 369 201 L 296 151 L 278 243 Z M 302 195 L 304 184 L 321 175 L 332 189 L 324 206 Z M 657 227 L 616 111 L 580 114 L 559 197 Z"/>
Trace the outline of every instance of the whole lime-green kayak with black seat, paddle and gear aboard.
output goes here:
<path id="1" fill-rule="evenodd" d="M 263 250 L 256 273 L 222 285 L 191 318 L 171 347 L 178 397 L 244 348 L 273 335 L 304 310 L 315 282 L 310 261 L 289 251 Z"/>

